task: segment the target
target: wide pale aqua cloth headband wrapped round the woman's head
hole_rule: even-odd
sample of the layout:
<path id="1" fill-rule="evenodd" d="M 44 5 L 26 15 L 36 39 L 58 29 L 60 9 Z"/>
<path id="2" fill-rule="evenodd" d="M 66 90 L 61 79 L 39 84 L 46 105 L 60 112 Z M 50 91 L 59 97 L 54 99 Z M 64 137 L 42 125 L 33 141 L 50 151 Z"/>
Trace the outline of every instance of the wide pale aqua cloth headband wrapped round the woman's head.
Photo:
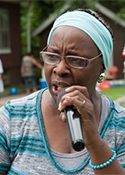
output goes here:
<path id="1" fill-rule="evenodd" d="M 54 22 L 48 36 L 47 45 L 50 44 L 55 29 L 65 25 L 73 26 L 86 32 L 102 53 L 104 66 L 108 68 L 113 52 L 113 39 L 109 30 L 98 19 L 87 12 L 66 12 Z"/>

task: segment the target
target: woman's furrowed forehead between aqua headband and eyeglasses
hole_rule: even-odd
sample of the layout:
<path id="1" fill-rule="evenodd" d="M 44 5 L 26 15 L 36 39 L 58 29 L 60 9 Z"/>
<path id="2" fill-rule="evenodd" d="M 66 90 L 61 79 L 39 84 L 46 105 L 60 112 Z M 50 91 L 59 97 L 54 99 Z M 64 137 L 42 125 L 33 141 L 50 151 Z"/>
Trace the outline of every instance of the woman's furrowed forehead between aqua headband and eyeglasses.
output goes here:
<path id="1" fill-rule="evenodd" d="M 93 40 L 84 31 L 71 26 L 60 26 L 53 32 L 50 45 L 75 47 L 78 49 L 96 49 Z"/>

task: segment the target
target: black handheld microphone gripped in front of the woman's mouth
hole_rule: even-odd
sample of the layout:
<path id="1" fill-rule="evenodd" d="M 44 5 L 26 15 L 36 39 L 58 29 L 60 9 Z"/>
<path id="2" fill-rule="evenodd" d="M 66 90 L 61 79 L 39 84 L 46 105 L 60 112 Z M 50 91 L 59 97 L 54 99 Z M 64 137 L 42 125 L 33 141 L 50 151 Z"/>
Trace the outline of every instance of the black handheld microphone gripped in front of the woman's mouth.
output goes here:
<path id="1" fill-rule="evenodd" d="M 65 95 L 66 88 L 63 88 L 59 92 L 57 96 L 57 104 L 59 104 L 62 96 Z M 78 113 L 78 111 L 73 105 L 67 106 L 66 109 L 64 110 L 64 113 L 67 119 L 72 147 L 75 151 L 81 151 L 85 147 L 85 141 L 84 141 L 83 133 L 82 133 L 80 114 Z"/>

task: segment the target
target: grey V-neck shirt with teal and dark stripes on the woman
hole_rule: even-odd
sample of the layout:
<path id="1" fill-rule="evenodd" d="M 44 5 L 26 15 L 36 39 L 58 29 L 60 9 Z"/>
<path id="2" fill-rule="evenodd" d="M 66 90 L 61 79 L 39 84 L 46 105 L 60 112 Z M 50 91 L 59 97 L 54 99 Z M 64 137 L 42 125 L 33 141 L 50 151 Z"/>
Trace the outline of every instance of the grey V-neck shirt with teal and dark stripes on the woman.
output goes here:
<path id="1" fill-rule="evenodd" d="M 94 175 L 86 148 L 63 154 L 49 147 L 43 118 L 43 91 L 8 101 L 0 109 L 0 171 L 9 175 Z M 100 136 L 125 167 L 125 109 L 102 97 Z"/>

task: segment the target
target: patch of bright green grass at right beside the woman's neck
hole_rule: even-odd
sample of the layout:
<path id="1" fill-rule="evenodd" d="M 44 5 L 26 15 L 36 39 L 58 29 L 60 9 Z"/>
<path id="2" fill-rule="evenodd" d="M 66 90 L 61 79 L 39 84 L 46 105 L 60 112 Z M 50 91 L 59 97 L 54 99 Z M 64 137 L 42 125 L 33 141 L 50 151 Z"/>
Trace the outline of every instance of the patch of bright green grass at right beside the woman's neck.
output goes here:
<path id="1" fill-rule="evenodd" d="M 125 88 L 124 86 L 110 87 L 110 89 L 102 90 L 101 93 L 110 97 L 112 100 L 117 100 L 124 96 Z"/>

